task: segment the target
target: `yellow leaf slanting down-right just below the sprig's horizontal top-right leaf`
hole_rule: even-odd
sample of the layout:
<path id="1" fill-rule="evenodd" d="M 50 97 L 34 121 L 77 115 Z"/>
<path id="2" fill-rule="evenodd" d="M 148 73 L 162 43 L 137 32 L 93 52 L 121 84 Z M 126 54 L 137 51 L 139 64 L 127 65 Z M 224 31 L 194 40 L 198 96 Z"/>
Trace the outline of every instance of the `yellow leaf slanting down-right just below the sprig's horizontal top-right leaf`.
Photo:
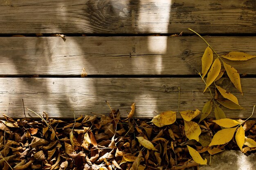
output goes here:
<path id="1" fill-rule="evenodd" d="M 229 76 L 231 82 L 234 84 L 236 89 L 238 89 L 238 91 L 240 91 L 240 93 L 242 93 L 243 95 L 239 73 L 234 67 L 230 66 L 229 64 L 223 62 L 223 65 L 227 71 L 227 75 Z"/>

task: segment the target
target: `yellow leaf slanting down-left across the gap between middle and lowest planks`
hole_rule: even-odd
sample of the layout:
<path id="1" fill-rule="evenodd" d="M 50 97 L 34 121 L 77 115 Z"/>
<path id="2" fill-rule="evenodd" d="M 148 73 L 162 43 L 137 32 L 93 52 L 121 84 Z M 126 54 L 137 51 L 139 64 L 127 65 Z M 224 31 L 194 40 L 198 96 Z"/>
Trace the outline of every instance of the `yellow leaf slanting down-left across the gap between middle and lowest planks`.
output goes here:
<path id="1" fill-rule="evenodd" d="M 204 92 L 206 89 L 213 83 L 213 81 L 218 77 L 220 74 L 220 69 L 221 69 L 221 63 L 218 58 L 216 58 L 211 66 L 211 69 L 207 75 L 206 79 L 206 87 L 204 89 Z"/>

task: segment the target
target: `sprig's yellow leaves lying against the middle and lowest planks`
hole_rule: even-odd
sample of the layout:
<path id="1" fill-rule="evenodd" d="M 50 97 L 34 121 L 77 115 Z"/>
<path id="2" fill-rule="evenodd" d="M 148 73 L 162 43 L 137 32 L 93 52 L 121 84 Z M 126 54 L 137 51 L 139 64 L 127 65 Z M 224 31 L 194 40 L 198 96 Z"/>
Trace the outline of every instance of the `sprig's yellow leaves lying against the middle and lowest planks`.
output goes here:
<path id="1" fill-rule="evenodd" d="M 202 37 L 201 37 L 202 38 Z M 208 44 L 208 43 L 207 43 Z M 214 51 L 215 52 L 215 51 Z M 215 52 L 216 53 L 216 52 Z M 205 105 L 202 110 L 202 115 L 200 121 L 202 121 L 204 118 L 206 118 L 212 110 L 212 104 L 214 103 L 214 113 L 216 119 L 223 119 L 225 117 L 225 113 L 223 110 L 216 104 L 215 100 L 221 104 L 222 106 L 229 108 L 229 109 L 243 109 L 238 103 L 238 99 L 236 98 L 235 95 L 232 93 L 227 92 L 224 88 L 217 86 L 215 82 L 222 77 L 224 72 L 227 72 L 227 75 L 231 82 L 234 84 L 236 89 L 243 95 L 242 87 L 241 87 L 241 82 L 240 82 L 240 76 L 238 71 L 230 66 L 229 64 L 225 63 L 221 57 L 226 58 L 228 60 L 234 60 L 234 61 L 245 61 L 249 60 L 251 58 L 256 57 L 255 55 L 249 55 L 243 52 L 229 52 L 226 55 L 222 55 L 221 57 L 216 53 L 217 58 L 213 62 L 213 50 L 212 47 L 207 46 L 207 48 L 204 51 L 204 54 L 202 56 L 202 79 L 207 75 L 207 79 L 205 81 L 205 88 L 204 92 L 209 88 L 211 84 L 213 84 L 216 87 L 216 97 L 209 100 Z M 225 69 L 221 69 L 221 62 L 224 66 Z M 208 72 L 209 71 L 209 72 Z M 208 74 L 207 74 L 208 73 Z M 211 91 L 210 91 L 211 92 Z M 218 94 L 222 95 L 223 98 L 219 98 Z"/>

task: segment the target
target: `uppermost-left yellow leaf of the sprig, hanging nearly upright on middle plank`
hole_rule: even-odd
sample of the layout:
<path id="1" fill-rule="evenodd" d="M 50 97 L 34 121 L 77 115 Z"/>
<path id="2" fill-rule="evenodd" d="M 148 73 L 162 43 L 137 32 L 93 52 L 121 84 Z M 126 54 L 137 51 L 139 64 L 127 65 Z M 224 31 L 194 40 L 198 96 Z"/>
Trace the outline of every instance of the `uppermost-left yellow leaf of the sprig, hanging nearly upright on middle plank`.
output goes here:
<path id="1" fill-rule="evenodd" d="M 206 75 L 209 70 L 211 63 L 213 61 L 213 52 L 209 46 L 204 51 L 204 55 L 202 56 L 202 77 Z"/>

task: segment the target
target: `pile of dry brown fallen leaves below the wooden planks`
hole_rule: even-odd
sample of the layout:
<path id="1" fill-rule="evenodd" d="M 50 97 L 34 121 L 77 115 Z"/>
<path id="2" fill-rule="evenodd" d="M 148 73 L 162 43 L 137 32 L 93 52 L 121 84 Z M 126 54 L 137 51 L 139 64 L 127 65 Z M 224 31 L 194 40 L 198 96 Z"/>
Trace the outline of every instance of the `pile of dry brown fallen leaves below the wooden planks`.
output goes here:
<path id="1" fill-rule="evenodd" d="M 233 137 L 224 145 L 209 147 L 211 137 L 222 128 L 213 119 L 200 122 L 199 141 L 189 140 L 183 119 L 157 127 L 155 119 L 122 119 L 119 110 L 97 118 L 85 115 L 73 120 L 18 119 L 4 115 L 0 120 L 0 167 L 3 170 L 182 170 L 199 166 L 192 152 L 240 150 Z M 243 122 L 242 120 L 238 120 Z M 241 124 L 250 139 L 256 139 L 256 120 Z M 192 149 L 192 150 L 191 150 Z M 243 147 L 245 154 L 255 147 Z M 190 155 L 190 154 L 191 155 Z M 194 153 L 194 155 L 197 153 Z M 199 155 L 199 154 L 198 154 Z"/>

